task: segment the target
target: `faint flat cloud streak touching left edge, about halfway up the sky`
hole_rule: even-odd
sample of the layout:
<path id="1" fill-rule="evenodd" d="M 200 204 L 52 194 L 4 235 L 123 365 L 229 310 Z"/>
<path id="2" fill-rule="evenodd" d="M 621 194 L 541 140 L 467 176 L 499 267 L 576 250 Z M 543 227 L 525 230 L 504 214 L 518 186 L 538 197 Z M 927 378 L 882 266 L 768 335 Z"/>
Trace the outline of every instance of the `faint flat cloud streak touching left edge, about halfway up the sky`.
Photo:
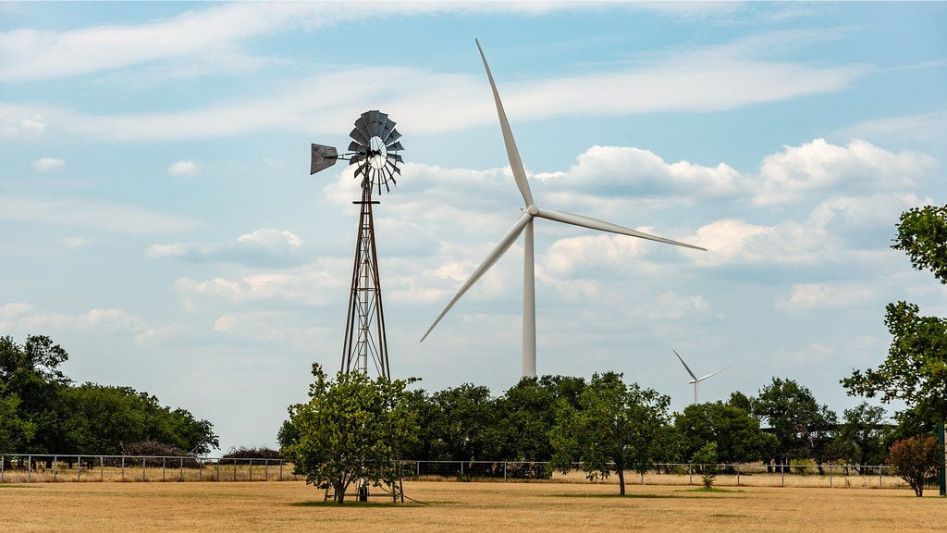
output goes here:
<path id="1" fill-rule="evenodd" d="M 173 233 L 198 226 L 190 217 L 79 199 L 0 196 L 0 220 L 114 233 Z"/>

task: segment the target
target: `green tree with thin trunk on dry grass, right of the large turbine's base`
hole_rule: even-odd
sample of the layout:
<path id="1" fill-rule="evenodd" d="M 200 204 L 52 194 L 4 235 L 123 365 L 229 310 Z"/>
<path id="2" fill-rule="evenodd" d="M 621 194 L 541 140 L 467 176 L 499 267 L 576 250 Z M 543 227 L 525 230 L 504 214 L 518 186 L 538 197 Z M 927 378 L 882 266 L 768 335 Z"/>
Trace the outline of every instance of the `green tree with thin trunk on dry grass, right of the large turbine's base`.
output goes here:
<path id="1" fill-rule="evenodd" d="M 550 435 L 552 464 L 563 472 L 579 460 L 589 479 L 618 474 L 625 494 L 625 470 L 643 471 L 651 462 L 652 442 L 668 421 L 667 396 L 637 384 L 626 385 L 614 372 L 595 374 L 573 407 L 565 400 L 557 409 Z"/>

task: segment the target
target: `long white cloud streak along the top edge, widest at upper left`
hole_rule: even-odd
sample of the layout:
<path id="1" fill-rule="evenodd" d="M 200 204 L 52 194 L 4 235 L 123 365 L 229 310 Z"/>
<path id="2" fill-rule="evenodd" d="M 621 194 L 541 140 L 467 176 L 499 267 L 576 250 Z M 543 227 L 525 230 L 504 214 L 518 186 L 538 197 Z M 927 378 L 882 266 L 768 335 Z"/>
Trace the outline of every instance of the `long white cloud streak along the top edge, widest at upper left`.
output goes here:
<path id="1" fill-rule="evenodd" d="M 732 6 L 726 4 L 704 2 L 629 7 L 678 15 L 732 11 Z M 340 9 L 332 3 L 237 3 L 193 9 L 143 24 L 65 31 L 19 28 L 0 33 L 0 79 L 49 79 L 193 57 L 215 58 L 217 61 L 208 62 L 205 68 L 219 68 L 221 62 L 258 59 L 247 57 L 239 48 L 253 37 L 299 28 L 313 30 L 349 20 L 451 11 L 538 14 L 606 8 L 615 6 L 590 8 L 568 2 L 351 2 Z"/>

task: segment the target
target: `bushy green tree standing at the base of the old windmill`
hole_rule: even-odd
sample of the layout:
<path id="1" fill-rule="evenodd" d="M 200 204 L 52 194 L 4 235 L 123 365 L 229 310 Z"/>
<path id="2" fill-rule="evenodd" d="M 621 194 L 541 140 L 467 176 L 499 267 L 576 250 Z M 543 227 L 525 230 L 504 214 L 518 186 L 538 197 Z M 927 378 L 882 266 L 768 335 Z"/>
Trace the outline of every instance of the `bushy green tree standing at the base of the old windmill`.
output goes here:
<path id="1" fill-rule="evenodd" d="M 355 480 L 393 486 L 401 477 L 395 461 L 418 432 L 408 382 L 371 381 L 359 372 L 339 372 L 333 382 L 318 364 L 312 374 L 309 402 L 289 408 L 296 439 L 281 453 L 306 483 L 331 486 L 338 503 Z"/>

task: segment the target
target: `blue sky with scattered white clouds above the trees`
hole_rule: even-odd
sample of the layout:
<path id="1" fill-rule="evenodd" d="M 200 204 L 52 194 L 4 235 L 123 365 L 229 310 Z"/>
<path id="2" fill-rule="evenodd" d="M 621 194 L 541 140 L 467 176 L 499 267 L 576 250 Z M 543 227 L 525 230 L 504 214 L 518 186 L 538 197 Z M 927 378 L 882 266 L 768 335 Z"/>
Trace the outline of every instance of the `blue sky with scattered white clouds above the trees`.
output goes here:
<path id="1" fill-rule="evenodd" d="M 520 377 L 522 243 L 423 343 L 533 196 L 706 247 L 536 222 L 539 374 L 618 371 L 691 402 L 798 380 L 841 412 L 884 306 L 947 314 L 890 249 L 943 203 L 947 4 L 2 3 L 0 334 L 50 335 L 78 382 L 275 446 L 334 371 L 358 186 L 309 176 L 358 116 L 398 123 L 376 206 L 394 377 Z"/>

